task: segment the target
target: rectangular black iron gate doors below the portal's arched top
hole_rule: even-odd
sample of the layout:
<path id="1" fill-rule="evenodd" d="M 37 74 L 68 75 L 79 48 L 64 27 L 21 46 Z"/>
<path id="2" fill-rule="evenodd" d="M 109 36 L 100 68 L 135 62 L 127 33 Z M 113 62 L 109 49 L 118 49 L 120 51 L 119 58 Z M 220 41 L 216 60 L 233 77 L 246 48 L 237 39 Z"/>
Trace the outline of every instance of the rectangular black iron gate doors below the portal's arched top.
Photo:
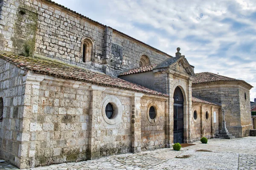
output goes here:
<path id="1" fill-rule="evenodd" d="M 173 143 L 183 143 L 183 104 L 174 104 Z"/>

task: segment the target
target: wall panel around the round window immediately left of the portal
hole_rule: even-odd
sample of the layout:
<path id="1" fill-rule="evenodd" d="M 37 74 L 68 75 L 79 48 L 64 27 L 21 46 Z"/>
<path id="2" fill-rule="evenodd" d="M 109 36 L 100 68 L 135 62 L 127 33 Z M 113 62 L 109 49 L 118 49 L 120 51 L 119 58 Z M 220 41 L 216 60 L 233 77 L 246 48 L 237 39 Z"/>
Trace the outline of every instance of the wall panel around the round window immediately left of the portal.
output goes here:
<path id="1" fill-rule="evenodd" d="M 154 150 L 166 145 L 166 102 L 152 98 L 141 99 L 141 149 Z M 156 111 L 155 119 L 149 117 L 149 108 Z"/>

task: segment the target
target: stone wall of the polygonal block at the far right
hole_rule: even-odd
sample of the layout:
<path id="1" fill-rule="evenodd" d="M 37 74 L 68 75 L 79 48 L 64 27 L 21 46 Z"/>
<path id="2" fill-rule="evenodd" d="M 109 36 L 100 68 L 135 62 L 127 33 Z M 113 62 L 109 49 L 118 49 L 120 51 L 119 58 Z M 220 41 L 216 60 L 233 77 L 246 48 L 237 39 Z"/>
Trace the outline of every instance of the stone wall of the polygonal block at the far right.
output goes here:
<path id="1" fill-rule="evenodd" d="M 243 88 L 242 90 L 238 82 L 212 82 L 208 84 L 192 85 L 193 96 L 221 104 L 222 108 L 225 110 L 227 129 L 236 137 L 248 136 L 248 129 L 251 128 L 251 123 L 250 120 L 248 121 L 247 114 L 245 115 L 245 118 L 243 118 L 244 121 L 241 120 L 241 117 L 247 112 L 247 105 L 250 105 L 249 99 L 243 101 L 244 90 L 249 94 L 249 90 L 246 88 Z M 241 94 L 240 91 L 243 91 L 243 93 Z M 242 112 L 240 107 L 242 108 Z M 249 110 L 250 107 L 248 111 Z M 221 121 L 222 118 L 220 119 L 220 122 Z"/>

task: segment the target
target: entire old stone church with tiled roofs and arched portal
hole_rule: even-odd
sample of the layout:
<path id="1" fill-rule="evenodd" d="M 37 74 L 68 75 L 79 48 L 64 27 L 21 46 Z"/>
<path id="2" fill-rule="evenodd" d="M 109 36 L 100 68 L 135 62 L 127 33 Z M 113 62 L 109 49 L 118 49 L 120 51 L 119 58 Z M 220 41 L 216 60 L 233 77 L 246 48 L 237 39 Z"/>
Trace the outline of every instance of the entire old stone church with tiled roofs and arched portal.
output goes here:
<path id="1" fill-rule="evenodd" d="M 222 110 L 252 129 L 247 82 L 51 0 L 0 0 L 0 51 L 0 159 L 21 169 L 215 138 Z"/>

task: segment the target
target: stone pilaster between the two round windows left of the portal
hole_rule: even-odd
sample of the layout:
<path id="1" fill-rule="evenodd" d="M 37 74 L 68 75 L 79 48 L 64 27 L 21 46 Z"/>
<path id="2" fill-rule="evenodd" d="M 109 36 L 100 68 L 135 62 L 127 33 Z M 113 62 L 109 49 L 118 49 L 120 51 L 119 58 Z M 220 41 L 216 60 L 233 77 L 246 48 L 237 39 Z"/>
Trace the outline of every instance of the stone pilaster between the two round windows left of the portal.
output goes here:
<path id="1" fill-rule="evenodd" d="M 143 94 L 135 93 L 131 97 L 131 152 L 141 152 L 141 97 Z"/>

